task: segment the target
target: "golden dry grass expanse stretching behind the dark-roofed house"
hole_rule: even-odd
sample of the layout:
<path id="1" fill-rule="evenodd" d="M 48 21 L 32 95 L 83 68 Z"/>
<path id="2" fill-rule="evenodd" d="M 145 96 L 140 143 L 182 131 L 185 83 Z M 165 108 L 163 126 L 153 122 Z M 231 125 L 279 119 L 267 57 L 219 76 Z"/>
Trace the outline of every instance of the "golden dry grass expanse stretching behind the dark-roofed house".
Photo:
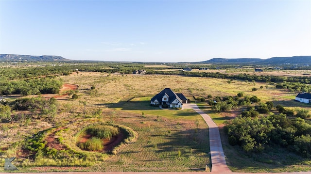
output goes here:
<path id="1" fill-rule="evenodd" d="M 82 99 L 87 100 L 87 105 L 117 103 L 121 99 L 132 96 L 153 96 L 164 88 L 171 88 L 177 93 L 186 94 L 192 99 L 192 95 L 216 96 L 236 95 L 244 92 L 246 95 L 257 95 L 264 101 L 272 100 L 271 96 L 288 94 L 276 90 L 275 86 L 266 83 L 245 83 L 241 80 L 233 80 L 230 84 L 227 79 L 183 77 L 174 75 L 110 75 L 97 72 L 83 72 L 64 77 L 65 82 L 79 85 Z M 98 94 L 90 96 L 87 93 L 91 86 L 95 86 Z M 260 86 L 264 86 L 260 89 Z M 267 88 L 265 87 L 267 86 Z M 258 88 L 253 92 L 252 88 Z"/>

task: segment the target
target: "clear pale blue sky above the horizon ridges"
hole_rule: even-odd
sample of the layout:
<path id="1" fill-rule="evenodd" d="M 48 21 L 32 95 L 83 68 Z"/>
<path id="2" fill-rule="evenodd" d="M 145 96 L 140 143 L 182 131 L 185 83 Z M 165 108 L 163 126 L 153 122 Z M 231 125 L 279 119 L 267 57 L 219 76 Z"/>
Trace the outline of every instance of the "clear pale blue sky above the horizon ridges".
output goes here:
<path id="1" fill-rule="evenodd" d="M 139 62 L 311 55 L 311 0 L 0 0 L 0 54 Z"/>

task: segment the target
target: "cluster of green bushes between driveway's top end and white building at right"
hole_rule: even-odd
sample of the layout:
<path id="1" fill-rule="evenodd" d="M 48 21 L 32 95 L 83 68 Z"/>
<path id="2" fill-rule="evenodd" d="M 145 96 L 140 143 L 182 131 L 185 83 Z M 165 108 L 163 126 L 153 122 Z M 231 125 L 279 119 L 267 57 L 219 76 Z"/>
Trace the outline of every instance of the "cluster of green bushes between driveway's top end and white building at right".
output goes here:
<path id="1" fill-rule="evenodd" d="M 238 93 L 236 96 L 216 96 L 213 99 L 209 99 L 207 103 L 212 107 L 213 111 L 230 111 L 238 106 L 249 106 L 260 101 L 257 96 L 243 96 L 243 93 Z"/>

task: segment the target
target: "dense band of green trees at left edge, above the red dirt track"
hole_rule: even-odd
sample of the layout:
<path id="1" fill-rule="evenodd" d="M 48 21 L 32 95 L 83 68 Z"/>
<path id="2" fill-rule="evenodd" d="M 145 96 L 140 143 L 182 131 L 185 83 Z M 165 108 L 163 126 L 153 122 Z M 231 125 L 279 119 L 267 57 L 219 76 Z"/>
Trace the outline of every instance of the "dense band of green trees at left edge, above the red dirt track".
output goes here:
<path id="1" fill-rule="evenodd" d="M 38 95 L 38 94 L 58 94 L 62 87 L 61 79 L 54 77 L 24 79 L 16 81 L 3 80 L 0 82 L 0 95 Z"/>

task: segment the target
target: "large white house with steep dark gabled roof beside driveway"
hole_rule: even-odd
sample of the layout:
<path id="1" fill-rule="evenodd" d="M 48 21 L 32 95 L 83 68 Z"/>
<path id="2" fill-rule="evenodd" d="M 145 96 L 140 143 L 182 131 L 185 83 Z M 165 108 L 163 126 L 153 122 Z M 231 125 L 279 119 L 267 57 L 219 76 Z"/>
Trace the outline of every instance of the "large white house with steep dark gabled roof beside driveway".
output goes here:
<path id="1" fill-rule="evenodd" d="M 170 88 L 165 88 L 160 93 L 151 98 L 150 104 L 154 106 L 161 106 L 162 108 L 182 108 L 183 103 L 188 100 L 185 95 L 181 93 L 174 93 Z"/>

